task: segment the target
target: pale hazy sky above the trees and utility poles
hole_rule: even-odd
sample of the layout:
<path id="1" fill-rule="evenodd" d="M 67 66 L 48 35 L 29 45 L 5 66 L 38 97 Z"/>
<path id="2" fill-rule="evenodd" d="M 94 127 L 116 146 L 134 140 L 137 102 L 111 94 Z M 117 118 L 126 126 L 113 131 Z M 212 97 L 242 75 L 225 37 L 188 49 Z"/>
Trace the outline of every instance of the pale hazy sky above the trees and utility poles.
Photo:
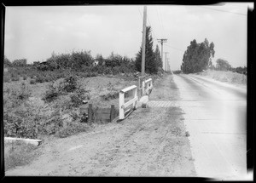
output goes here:
<path id="1" fill-rule="evenodd" d="M 247 66 L 247 7 L 253 3 L 212 6 L 147 5 L 147 26 L 166 38 L 163 60 L 179 70 L 184 51 L 194 39 L 214 43 L 215 60 Z M 135 58 L 143 40 L 143 5 L 6 7 L 4 54 L 11 61 L 45 61 L 51 54 L 90 51 L 107 58 L 111 52 Z"/>

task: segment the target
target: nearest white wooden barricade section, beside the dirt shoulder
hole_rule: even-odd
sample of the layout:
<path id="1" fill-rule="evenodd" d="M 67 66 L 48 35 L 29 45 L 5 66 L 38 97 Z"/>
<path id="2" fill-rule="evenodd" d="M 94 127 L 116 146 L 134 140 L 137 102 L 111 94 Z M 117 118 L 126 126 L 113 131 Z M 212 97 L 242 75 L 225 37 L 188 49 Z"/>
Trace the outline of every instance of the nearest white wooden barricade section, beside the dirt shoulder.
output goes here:
<path id="1" fill-rule="evenodd" d="M 129 92 L 132 90 L 132 96 L 133 98 L 129 101 L 127 101 L 125 103 L 125 93 Z M 124 119 L 125 118 L 125 108 L 130 106 L 132 104 L 132 106 L 135 108 L 136 104 L 137 104 L 137 86 L 136 85 L 132 85 L 131 87 L 127 87 L 125 89 L 122 89 L 119 92 L 119 119 Z"/>

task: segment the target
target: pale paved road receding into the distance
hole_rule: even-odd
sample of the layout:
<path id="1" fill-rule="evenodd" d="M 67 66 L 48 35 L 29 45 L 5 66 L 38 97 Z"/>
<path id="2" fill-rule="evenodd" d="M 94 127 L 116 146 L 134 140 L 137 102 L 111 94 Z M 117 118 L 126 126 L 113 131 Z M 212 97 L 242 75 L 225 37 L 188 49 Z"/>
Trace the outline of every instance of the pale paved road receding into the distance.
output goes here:
<path id="1" fill-rule="evenodd" d="M 246 176 L 247 90 L 195 75 L 174 75 L 198 176 Z"/>

